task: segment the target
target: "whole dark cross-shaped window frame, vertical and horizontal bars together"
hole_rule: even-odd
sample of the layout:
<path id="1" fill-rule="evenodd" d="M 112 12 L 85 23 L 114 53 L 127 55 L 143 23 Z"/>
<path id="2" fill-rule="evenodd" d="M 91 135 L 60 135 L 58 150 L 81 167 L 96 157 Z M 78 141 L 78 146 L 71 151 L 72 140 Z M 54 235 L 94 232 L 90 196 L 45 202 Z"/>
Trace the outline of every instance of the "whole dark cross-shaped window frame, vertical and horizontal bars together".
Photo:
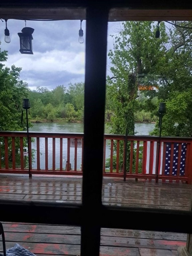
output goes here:
<path id="1" fill-rule="evenodd" d="M 4 7 L 10 8 L 9 4 L 13 1 L 6 2 L 3 0 L 0 8 L 2 4 Z M 46 1 L 45 4 L 55 7 L 53 2 Z M 64 2 L 66 6 L 70 5 L 69 1 Z M 79 4 L 78 1 L 70 2 L 74 6 Z M 191 211 L 102 205 L 108 15 L 111 7 L 130 7 L 133 6 L 133 2 L 130 2 L 128 6 L 127 1 L 106 1 L 101 8 L 100 2 L 91 5 L 87 1 L 81 1 L 81 7 L 86 7 L 82 204 L 61 205 L 0 200 L 0 221 L 81 226 L 81 256 L 99 255 L 100 229 L 102 227 L 192 233 L 192 227 L 189 225 L 192 217 Z M 172 4 L 167 2 L 164 1 L 164 5 L 161 3 L 161 7 L 169 6 L 172 8 Z M 184 3 L 179 1 L 178 3 L 177 8 L 183 9 Z M 15 6 L 20 6 L 20 4 L 21 1 L 18 0 Z M 57 7 L 61 6 L 63 6 L 62 3 L 58 4 Z M 143 7 L 143 4 L 140 6 L 137 4 L 134 7 L 152 8 L 148 5 Z M 157 5 L 154 7 L 157 9 Z M 145 20 L 145 18 L 143 19 Z M 8 212 L 14 214 L 7 214 Z M 152 219 L 157 220 L 155 224 L 151 221 Z"/>

